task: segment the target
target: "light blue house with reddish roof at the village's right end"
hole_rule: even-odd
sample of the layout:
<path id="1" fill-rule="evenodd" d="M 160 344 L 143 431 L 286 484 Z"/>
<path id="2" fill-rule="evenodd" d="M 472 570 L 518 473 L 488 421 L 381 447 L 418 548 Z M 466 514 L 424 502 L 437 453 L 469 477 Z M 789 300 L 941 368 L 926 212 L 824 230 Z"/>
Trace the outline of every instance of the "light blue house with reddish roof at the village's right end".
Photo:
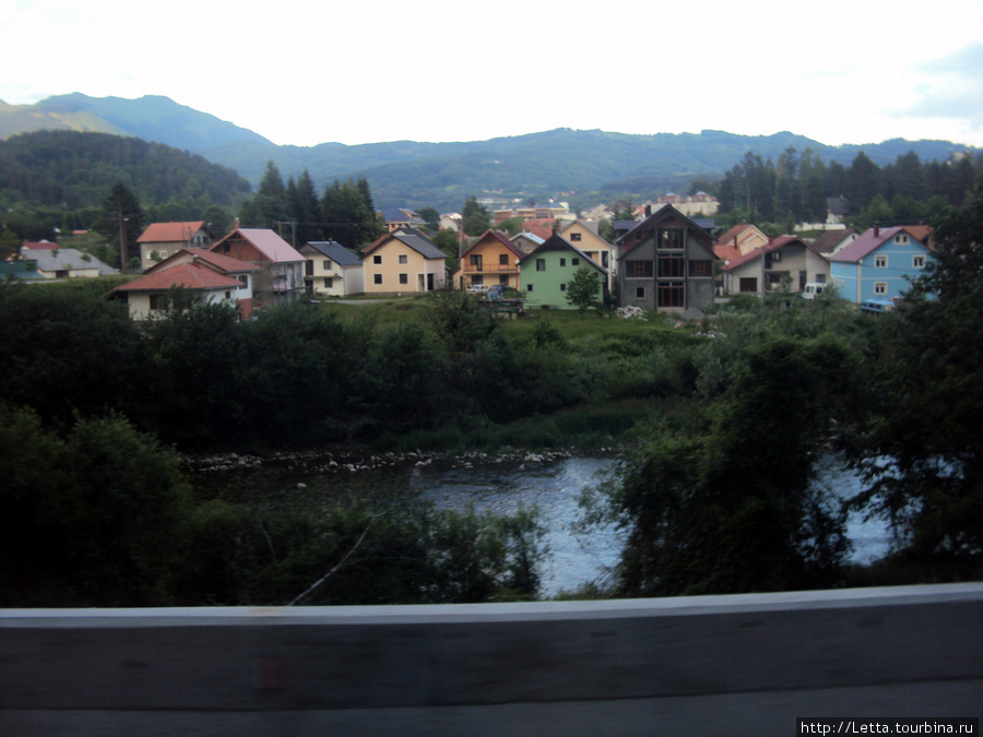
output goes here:
<path id="1" fill-rule="evenodd" d="M 927 237 L 926 239 L 927 240 Z M 932 251 L 908 228 L 871 228 L 829 257 L 829 272 L 840 296 L 855 305 L 890 300 L 922 274 Z"/>

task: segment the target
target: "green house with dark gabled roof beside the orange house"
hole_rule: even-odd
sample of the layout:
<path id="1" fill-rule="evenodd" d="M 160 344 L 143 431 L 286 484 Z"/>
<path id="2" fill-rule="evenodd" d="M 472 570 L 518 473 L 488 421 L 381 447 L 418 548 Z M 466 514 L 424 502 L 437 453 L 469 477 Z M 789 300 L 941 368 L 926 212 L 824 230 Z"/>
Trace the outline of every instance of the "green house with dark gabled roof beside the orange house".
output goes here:
<path id="1" fill-rule="evenodd" d="M 577 309 L 567 301 L 567 284 L 582 266 L 597 270 L 601 276 L 597 301 L 602 301 L 607 284 L 607 270 L 554 233 L 519 265 L 519 281 L 525 292 L 526 309 L 543 307 L 552 310 Z"/>

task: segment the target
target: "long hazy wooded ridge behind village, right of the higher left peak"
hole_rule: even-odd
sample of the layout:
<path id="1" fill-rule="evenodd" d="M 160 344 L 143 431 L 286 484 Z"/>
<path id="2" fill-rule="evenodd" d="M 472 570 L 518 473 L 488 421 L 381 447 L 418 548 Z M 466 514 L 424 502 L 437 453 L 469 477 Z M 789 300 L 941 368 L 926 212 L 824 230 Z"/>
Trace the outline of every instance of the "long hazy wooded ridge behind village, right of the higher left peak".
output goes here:
<path id="1" fill-rule="evenodd" d="M 745 153 L 777 161 L 790 146 L 812 148 L 826 163 L 849 166 L 863 151 L 879 166 L 914 151 L 924 162 L 947 161 L 967 147 L 946 141 L 886 141 L 827 146 L 802 135 L 736 135 L 723 131 L 632 135 L 557 129 L 490 141 L 416 143 L 398 141 L 312 147 L 226 144 L 204 152 L 256 183 L 272 159 L 284 177 L 307 169 L 323 186 L 333 178 L 365 177 L 380 206 L 459 210 L 472 194 L 541 200 L 565 193 L 571 203 L 623 195 L 685 192 L 697 178 L 720 179 Z M 584 202 L 581 197 L 590 193 Z"/>

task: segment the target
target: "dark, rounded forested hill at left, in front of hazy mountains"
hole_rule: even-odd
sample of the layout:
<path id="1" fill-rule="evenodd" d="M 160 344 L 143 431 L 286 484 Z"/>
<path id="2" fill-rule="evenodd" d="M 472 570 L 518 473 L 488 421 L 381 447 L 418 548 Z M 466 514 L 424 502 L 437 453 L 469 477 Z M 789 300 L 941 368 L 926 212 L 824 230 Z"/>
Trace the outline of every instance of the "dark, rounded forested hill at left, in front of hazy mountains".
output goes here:
<path id="1" fill-rule="evenodd" d="M 237 205 L 250 191 L 235 170 L 162 143 L 109 133 L 37 131 L 0 141 L 0 192 L 35 206 L 98 206 L 117 181 L 144 205 L 208 195 Z"/>

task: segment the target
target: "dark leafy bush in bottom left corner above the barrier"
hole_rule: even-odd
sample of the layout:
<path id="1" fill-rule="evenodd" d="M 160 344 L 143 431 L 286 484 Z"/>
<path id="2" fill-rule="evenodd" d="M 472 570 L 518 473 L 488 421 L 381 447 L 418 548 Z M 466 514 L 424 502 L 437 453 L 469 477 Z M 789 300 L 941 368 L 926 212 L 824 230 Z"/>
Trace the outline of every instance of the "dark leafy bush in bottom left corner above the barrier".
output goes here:
<path id="1" fill-rule="evenodd" d="M 110 416 L 76 419 L 62 440 L 0 405 L 0 604 L 169 603 L 189 500 L 155 439 Z"/>

